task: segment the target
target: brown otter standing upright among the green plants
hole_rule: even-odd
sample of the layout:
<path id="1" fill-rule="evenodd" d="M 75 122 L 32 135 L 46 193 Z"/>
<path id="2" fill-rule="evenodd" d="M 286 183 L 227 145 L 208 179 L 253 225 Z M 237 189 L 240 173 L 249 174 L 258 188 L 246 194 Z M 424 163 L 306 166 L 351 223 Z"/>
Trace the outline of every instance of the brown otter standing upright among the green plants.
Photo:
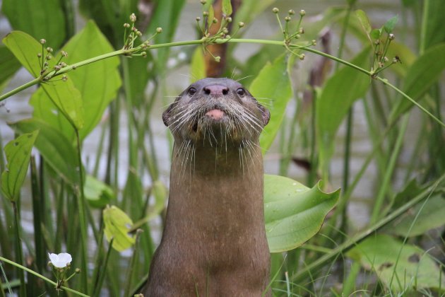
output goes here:
<path id="1" fill-rule="evenodd" d="M 170 197 L 144 296 L 271 295 L 259 146 L 269 117 L 228 78 L 192 83 L 163 112 Z"/>

